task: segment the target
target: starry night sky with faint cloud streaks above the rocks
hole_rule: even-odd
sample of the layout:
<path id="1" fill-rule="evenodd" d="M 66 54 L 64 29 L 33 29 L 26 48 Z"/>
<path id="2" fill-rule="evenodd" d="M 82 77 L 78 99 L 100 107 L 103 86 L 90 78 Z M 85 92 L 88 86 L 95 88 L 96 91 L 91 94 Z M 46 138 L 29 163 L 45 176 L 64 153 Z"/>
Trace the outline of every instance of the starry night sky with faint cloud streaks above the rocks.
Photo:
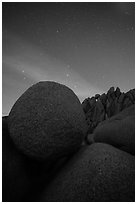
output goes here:
<path id="1" fill-rule="evenodd" d="M 38 81 L 70 87 L 82 102 L 135 87 L 135 4 L 3 2 L 2 112 Z"/>

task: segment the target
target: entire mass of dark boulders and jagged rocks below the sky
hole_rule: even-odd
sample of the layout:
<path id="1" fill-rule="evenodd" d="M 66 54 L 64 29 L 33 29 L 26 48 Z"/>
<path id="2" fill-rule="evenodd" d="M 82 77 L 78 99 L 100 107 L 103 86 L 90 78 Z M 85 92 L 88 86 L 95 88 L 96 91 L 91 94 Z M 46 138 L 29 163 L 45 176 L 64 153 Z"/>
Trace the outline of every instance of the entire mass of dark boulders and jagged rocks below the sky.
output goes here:
<path id="1" fill-rule="evenodd" d="M 135 89 L 81 104 L 39 82 L 2 118 L 3 202 L 134 202 Z"/>

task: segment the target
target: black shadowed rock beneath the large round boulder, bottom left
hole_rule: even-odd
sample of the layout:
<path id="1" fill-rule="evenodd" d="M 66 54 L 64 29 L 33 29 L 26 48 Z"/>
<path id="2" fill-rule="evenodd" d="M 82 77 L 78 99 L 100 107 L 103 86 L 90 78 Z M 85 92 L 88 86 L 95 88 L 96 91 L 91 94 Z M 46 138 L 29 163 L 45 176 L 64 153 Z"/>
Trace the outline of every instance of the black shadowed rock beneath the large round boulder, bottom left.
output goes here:
<path id="1" fill-rule="evenodd" d="M 67 158 L 54 162 L 32 160 L 22 154 L 10 138 L 8 117 L 2 118 L 2 201 L 35 201 Z"/>

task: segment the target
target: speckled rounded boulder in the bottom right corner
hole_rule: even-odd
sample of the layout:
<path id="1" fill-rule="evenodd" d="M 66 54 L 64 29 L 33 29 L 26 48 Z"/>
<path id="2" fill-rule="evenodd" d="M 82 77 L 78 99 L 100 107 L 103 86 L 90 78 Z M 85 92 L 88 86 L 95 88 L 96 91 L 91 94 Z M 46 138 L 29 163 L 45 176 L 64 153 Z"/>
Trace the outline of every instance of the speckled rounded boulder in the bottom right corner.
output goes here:
<path id="1" fill-rule="evenodd" d="M 42 202 L 134 202 L 135 161 L 110 145 L 83 147 L 64 166 Z"/>

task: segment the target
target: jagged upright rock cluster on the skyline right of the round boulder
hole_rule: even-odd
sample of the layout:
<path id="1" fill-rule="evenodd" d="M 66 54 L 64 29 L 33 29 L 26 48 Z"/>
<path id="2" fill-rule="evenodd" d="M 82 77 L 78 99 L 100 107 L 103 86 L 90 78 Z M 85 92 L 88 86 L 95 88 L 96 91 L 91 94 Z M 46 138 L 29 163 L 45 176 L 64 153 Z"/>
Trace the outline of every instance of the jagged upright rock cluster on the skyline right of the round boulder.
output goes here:
<path id="1" fill-rule="evenodd" d="M 107 94 L 96 94 L 82 102 L 86 115 L 88 133 L 92 133 L 96 126 L 107 118 L 110 118 L 127 107 L 135 104 L 135 89 L 122 93 L 117 87 L 111 87 Z"/>

